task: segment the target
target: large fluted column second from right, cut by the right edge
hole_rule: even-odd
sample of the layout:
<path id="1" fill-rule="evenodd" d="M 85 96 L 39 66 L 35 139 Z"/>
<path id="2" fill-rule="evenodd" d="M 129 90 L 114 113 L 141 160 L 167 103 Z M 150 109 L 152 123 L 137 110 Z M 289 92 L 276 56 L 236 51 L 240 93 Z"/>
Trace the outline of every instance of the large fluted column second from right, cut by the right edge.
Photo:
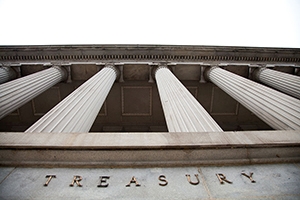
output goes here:
<path id="1" fill-rule="evenodd" d="M 206 77 L 274 129 L 300 130 L 300 100 L 218 67 Z"/>

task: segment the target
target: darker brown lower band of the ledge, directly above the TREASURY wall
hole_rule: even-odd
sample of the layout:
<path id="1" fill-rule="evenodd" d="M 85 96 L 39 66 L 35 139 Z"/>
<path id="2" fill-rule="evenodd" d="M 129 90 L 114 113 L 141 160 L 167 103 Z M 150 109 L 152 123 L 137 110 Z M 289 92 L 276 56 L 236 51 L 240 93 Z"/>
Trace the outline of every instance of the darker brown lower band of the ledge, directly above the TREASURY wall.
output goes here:
<path id="1" fill-rule="evenodd" d="M 300 147 L 198 150 L 1 149 L 1 166 L 179 167 L 300 162 Z"/>

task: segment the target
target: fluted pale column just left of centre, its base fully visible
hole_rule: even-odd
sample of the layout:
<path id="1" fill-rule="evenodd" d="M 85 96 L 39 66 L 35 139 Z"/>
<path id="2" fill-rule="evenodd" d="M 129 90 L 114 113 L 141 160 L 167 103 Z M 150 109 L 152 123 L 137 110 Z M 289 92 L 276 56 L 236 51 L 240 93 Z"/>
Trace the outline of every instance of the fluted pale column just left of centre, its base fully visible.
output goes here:
<path id="1" fill-rule="evenodd" d="M 89 132 L 118 71 L 104 67 L 25 132 Z"/>

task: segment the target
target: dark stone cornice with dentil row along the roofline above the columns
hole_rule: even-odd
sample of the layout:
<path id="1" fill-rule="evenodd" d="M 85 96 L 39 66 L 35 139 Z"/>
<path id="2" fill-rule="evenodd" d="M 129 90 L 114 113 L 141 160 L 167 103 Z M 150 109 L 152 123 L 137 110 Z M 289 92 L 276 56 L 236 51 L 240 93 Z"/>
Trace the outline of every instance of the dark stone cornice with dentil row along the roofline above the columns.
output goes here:
<path id="1" fill-rule="evenodd" d="M 166 45 L 0 46 L 0 61 L 300 62 L 300 49 Z"/>

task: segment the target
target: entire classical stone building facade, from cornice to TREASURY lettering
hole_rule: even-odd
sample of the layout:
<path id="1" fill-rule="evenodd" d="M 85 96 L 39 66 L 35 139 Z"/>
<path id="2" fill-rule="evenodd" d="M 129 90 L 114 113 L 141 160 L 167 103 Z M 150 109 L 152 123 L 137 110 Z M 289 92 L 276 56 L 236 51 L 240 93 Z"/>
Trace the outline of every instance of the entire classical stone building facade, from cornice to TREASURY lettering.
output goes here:
<path id="1" fill-rule="evenodd" d="M 20 188 L 18 182 L 26 182 L 30 176 L 36 177 L 34 187 L 45 179 L 43 173 L 53 178 L 47 167 L 64 180 L 73 167 L 83 174 L 98 170 L 102 174 L 88 174 L 100 181 L 99 187 L 107 187 L 112 174 L 124 178 L 124 168 L 132 173 L 128 180 L 132 186 L 140 181 L 137 174 L 143 177 L 137 193 L 125 187 L 123 194 L 116 193 L 120 188 L 111 186 L 103 198 L 159 198 L 161 187 L 166 199 L 172 195 L 179 199 L 300 196 L 299 186 L 290 187 L 300 181 L 299 49 L 2 46 L 0 64 L 3 198 L 25 197 L 6 190 Z M 220 167 L 224 165 L 227 167 Z M 31 167 L 36 170 L 30 171 Z M 227 180 L 220 169 L 228 179 L 236 177 L 234 174 L 246 177 L 253 183 L 252 189 L 241 183 L 239 195 L 233 188 L 218 189 Z M 251 173 L 245 175 L 243 169 L 261 181 L 253 181 Z M 295 176 L 282 185 L 276 174 L 264 176 L 261 170 Z M 18 181 L 16 173 L 23 173 L 23 179 Z M 174 191 L 168 173 L 184 175 L 189 185 Z M 192 179 L 186 173 L 191 173 Z M 57 174 L 55 180 L 48 180 L 58 181 Z M 150 175 L 158 177 L 158 188 Z M 273 182 L 266 186 L 262 180 L 272 177 Z M 195 178 L 198 182 L 193 182 Z M 233 179 L 227 183 L 240 181 Z M 74 181 L 78 185 L 89 180 L 78 175 Z M 215 181 L 218 185 L 214 186 Z M 177 182 L 180 185 L 182 180 Z M 63 187 L 63 180 L 59 184 L 56 187 Z M 42 194 L 36 194 L 33 186 L 24 191 L 34 198 L 57 197 L 46 190 L 55 186 L 50 182 L 46 185 L 40 189 L 45 190 Z M 88 189 L 87 185 L 82 186 L 86 194 L 96 195 L 97 187 Z M 195 193 L 185 193 L 185 187 L 191 185 L 199 188 L 187 188 Z M 266 193 L 253 193 L 255 187 L 281 189 L 277 193 L 270 188 Z M 77 192 L 67 191 L 62 196 L 89 199 Z"/>

